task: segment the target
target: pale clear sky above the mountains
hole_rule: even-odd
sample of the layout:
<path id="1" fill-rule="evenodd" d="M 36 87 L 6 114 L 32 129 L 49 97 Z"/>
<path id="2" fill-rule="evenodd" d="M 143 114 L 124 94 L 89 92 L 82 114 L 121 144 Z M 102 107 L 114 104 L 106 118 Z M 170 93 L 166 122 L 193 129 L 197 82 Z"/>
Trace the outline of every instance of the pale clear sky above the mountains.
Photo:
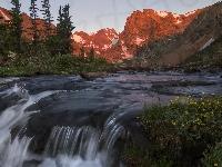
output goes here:
<path id="1" fill-rule="evenodd" d="M 11 0 L 0 0 L 0 7 L 11 9 Z M 41 0 L 38 8 L 41 9 Z M 220 0 L 50 0 L 53 20 L 58 18 L 60 6 L 70 4 L 73 31 L 95 32 L 102 28 L 124 29 L 127 18 L 135 10 L 153 9 L 173 13 L 186 13 L 211 6 Z M 20 0 L 21 11 L 29 12 L 31 0 Z M 39 11 L 41 18 L 41 12 Z M 57 23 L 54 21 L 54 23 Z"/>

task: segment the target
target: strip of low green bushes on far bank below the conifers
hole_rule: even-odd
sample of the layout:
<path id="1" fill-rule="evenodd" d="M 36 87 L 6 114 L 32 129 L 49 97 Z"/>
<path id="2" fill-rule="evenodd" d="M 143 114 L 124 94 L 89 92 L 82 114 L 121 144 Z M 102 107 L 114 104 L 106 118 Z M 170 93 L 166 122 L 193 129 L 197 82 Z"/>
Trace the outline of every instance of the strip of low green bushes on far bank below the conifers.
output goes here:
<path id="1" fill-rule="evenodd" d="M 103 58 L 95 58 L 93 61 L 81 59 L 72 55 L 59 55 L 50 57 L 16 57 L 9 60 L 9 65 L 0 66 L 0 77 L 33 76 L 42 75 L 77 75 L 81 71 L 110 70 L 111 66 Z"/>

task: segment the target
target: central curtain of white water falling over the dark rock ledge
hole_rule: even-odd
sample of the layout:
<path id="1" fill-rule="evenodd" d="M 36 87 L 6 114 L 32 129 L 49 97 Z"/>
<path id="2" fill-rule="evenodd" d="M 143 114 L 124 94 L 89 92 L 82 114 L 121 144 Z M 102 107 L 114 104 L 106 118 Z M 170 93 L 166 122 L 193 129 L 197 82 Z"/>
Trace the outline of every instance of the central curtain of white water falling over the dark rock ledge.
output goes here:
<path id="1" fill-rule="evenodd" d="M 120 136 L 124 136 L 124 128 L 119 124 L 105 127 L 109 131 L 102 132 L 89 126 L 54 127 L 39 167 L 111 166 L 113 145 Z"/>

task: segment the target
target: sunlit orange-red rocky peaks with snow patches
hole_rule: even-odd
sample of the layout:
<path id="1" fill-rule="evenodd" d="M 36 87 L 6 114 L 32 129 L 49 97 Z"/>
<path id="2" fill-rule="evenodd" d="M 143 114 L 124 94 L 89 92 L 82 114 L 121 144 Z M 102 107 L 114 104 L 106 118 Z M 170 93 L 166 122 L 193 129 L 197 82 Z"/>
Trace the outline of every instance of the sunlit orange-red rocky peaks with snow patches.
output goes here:
<path id="1" fill-rule="evenodd" d="M 94 33 L 75 31 L 71 37 L 75 49 L 74 55 L 80 53 L 81 47 L 84 47 L 85 52 L 93 47 L 97 57 L 104 57 L 109 61 L 131 58 L 137 50 L 137 46 L 141 47 L 158 38 L 183 32 L 200 12 L 202 12 L 200 9 L 186 14 L 154 11 L 152 9 L 137 10 L 128 17 L 124 30 L 119 35 L 114 29 L 109 28 Z M 11 19 L 9 11 L 3 8 L 0 8 L 0 16 L 3 18 L 1 22 Z M 32 39 L 29 29 L 32 26 L 30 17 L 22 13 L 22 27 L 26 30 L 22 36 Z M 39 30 L 43 30 L 43 21 L 41 19 L 37 21 Z M 52 26 L 52 28 L 56 27 Z"/>

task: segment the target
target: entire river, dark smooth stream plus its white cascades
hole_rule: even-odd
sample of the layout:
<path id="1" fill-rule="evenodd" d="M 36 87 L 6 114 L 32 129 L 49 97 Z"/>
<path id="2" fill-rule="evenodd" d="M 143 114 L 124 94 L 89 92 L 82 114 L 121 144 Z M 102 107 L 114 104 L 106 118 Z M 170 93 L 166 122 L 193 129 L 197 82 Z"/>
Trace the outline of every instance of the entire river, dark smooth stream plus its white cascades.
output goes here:
<path id="1" fill-rule="evenodd" d="M 152 87 L 183 80 L 199 84 Z M 2 78 L 0 85 L 0 167 L 125 166 L 121 153 L 144 104 L 221 91 L 218 76 L 178 72 Z"/>

